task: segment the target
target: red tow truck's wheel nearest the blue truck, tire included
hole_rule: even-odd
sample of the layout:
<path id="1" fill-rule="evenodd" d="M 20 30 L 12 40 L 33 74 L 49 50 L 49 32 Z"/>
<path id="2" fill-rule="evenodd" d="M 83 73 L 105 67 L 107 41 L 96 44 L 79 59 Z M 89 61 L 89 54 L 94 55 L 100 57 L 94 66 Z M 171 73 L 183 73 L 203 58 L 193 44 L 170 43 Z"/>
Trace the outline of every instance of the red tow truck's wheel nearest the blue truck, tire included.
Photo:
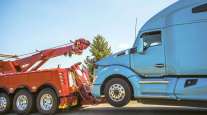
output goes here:
<path id="1" fill-rule="evenodd" d="M 36 100 L 38 112 L 42 114 L 54 114 L 58 110 L 58 97 L 51 88 L 42 89 Z"/>

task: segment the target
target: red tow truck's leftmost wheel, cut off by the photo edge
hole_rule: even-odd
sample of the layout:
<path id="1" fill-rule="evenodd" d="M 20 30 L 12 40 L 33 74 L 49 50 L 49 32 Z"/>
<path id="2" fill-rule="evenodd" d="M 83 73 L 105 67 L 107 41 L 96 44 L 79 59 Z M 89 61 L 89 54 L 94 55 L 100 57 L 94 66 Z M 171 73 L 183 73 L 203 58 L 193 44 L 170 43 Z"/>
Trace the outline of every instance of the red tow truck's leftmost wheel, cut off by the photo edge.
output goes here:
<path id="1" fill-rule="evenodd" d="M 11 109 L 11 100 L 8 94 L 0 93 L 0 114 L 9 112 Z"/>

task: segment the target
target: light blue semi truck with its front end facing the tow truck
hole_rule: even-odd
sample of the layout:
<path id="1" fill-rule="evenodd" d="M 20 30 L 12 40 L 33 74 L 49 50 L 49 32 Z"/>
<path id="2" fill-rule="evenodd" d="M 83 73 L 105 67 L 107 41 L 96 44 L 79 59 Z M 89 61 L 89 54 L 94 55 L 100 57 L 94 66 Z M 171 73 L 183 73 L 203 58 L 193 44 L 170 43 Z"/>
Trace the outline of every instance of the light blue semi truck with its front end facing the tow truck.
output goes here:
<path id="1" fill-rule="evenodd" d="M 207 105 L 207 0 L 180 0 L 140 29 L 132 48 L 96 63 L 93 95 L 122 107 Z"/>

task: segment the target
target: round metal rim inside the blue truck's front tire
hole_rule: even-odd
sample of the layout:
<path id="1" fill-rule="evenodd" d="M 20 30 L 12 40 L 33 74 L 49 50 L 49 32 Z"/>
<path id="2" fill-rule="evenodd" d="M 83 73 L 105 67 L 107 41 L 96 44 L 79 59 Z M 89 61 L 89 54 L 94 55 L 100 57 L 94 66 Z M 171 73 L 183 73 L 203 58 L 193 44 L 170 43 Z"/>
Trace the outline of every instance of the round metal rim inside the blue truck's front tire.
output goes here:
<path id="1" fill-rule="evenodd" d="M 109 88 L 109 97 L 115 102 L 120 102 L 124 99 L 126 93 L 121 84 L 113 84 Z"/>

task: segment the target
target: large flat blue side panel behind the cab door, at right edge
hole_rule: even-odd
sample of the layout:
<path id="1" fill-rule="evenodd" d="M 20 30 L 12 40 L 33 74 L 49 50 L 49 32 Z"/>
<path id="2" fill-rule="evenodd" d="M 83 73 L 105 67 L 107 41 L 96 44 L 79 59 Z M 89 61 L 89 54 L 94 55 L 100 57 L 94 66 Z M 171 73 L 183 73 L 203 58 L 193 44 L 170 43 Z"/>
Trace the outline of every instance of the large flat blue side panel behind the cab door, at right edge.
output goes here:
<path id="1" fill-rule="evenodd" d="M 168 75 L 207 75 L 206 30 L 207 22 L 164 30 Z"/>

